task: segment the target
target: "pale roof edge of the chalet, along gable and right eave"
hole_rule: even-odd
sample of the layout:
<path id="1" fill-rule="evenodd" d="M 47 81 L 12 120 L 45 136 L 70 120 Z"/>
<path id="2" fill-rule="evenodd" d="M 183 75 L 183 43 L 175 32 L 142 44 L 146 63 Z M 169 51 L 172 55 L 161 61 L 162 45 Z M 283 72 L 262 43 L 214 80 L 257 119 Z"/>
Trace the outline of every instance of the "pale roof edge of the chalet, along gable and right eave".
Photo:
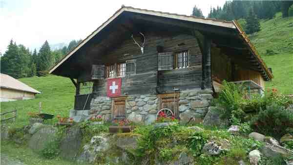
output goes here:
<path id="1" fill-rule="evenodd" d="M 239 33 L 239 37 L 245 41 L 247 46 L 250 48 L 253 55 L 255 55 L 255 58 L 257 59 L 258 63 L 261 65 L 261 68 L 265 71 L 263 73 L 263 77 L 266 80 L 271 79 L 272 73 L 269 71 L 263 60 L 258 55 L 256 49 L 252 46 L 252 44 L 249 42 L 249 39 L 241 29 L 240 25 L 236 21 L 226 21 L 226 20 L 216 20 L 216 19 L 208 19 L 204 17 L 195 17 L 195 16 L 187 16 L 187 15 L 180 15 L 180 14 L 174 14 L 174 13 L 167 13 L 167 12 L 160 12 L 160 11 L 153 11 L 153 10 L 146 10 L 146 9 L 140 9 L 140 8 L 133 8 L 130 6 L 122 6 L 119 10 L 117 10 L 105 23 L 103 23 L 101 26 L 99 26 L 95 31 L 93 31 L 89 36 L 87 36 L 78 46 L 76 46 L 74 49 L 72 49 L 70 52 L 67 53 L 66 56 L 63 57 L 54 67 L 52 67 L 49 71 L 49 73 L 52 73 L 55 71 L 60 65 L 63 64 L 64 61 L 66 61 L 70 56 L 72 56 L 76 51 L 78 51 L 81 47 L 84 46 L 90 39 L 92 39 L 95 35 L 97 35 L 102 29 L 104 29 L 108 24 L 110 24 L 113 20 L 115 20 L 119 15 L 121 15 L 123 12 L 132 12 L 132 13 L 139 13 L 139 14 L 146 14 L 146 15 L 152 15 L 152 16 L 158 16 L 168 19 L 175 19 L 175 20 L 181 20 L 181 21 L 187 21 L 191 23 L 200 23 L 200 24 L 209 24 L 216 27 L 225 27 L 232 30 L 237 31 Z"/>

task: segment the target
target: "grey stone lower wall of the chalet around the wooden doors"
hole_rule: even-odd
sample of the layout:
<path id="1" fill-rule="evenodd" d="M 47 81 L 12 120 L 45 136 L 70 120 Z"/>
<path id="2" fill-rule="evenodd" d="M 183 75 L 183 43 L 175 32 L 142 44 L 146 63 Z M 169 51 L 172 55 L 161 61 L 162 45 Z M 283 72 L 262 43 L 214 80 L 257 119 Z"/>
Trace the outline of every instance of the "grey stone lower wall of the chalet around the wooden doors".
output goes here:
<path id="1" fill-rule="evenodd" d="M 191 117 L 200 121 L 205 117 L 212 99 L 211 90 L 181 91 L 179 98 L 179 117 L 187 122 Z M 128 95 L 126 98 L 126 118 L 134 122 L 149 124 L 156 120 L 159 111 L 157 94 Z M 105 120 L 111 120 L 112 99 L 95 97 L 90 103 L 89 114 L 102 115 Z"/>

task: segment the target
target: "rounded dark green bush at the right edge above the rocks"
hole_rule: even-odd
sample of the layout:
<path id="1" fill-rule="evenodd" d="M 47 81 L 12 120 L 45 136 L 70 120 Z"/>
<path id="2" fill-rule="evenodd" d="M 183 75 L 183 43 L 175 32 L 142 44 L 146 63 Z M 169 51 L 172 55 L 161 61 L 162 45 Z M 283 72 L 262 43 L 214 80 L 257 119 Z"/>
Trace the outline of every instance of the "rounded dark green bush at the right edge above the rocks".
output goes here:
<path id="1" fill-rule="evenodd" d="M 293 128 L 293 114 L 283 106 L 272 104 L 252 118 L 251 127 L 255 132 L 279 139 Z"/>

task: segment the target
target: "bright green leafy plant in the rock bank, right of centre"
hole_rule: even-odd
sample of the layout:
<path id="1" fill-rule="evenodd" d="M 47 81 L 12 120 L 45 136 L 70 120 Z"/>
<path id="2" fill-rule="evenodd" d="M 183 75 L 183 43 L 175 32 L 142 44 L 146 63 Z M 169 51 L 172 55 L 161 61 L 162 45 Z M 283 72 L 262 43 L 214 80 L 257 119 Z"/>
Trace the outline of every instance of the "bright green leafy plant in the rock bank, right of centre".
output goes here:
<path id="1" fill-rule="evenodd" d="M 203 131 L 194 132 L 189 137 L 188 145 L 193 154 L 193 156 L 198 156 L 201 154 L 201 150 L 203 149 L 205 143 L 208 141 L 208 134 Z"/>

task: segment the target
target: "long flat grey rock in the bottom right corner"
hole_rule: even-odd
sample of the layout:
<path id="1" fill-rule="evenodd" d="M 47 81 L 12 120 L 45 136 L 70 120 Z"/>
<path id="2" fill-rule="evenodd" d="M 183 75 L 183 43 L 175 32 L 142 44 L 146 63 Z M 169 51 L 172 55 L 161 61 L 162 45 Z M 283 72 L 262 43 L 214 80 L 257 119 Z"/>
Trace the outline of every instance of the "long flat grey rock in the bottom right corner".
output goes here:
<path id="1" fill-rule="evenodd" d="M 261 152 L 272 158 L 277 158 L 282 156 L 283 158 L 290 158 L 293 155 L 293 151 L 287 148 L 284 148 L 280 145 L 272 145 L 265 142 L 265 145 L 262 147 Z"/>

